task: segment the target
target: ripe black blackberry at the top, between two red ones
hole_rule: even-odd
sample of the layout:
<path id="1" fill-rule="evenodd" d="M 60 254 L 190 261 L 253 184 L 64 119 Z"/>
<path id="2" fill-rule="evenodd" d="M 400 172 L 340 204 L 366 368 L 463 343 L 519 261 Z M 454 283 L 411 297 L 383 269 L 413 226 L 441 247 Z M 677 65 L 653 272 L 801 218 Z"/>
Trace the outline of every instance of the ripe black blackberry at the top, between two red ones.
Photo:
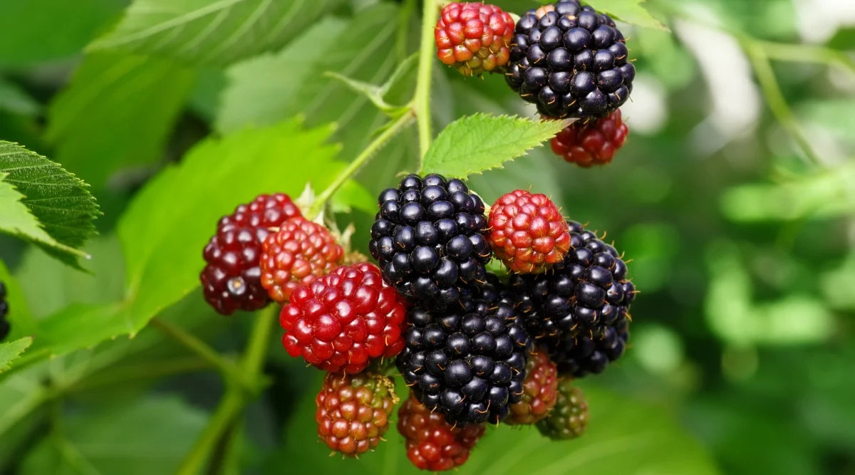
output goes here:
<path id="1" fill-rule="evenodd" d="M 602 117 L 633 90 L 635 67 L 624 43 L 609 15 L 561 0 L 516 22 L 505 79 L 546 117 Z"/>

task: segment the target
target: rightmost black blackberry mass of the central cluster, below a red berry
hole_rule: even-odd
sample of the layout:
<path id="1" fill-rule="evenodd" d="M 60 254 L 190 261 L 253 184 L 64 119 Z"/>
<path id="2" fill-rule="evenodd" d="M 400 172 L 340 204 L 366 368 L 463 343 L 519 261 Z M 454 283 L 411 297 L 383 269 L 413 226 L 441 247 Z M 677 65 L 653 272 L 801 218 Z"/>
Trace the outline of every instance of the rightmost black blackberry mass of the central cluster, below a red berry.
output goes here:
<path id="1" fill-rule="evenodd" d="M 559 372 L 603 372 L 623 354 L 634 284 L 616 249 L 568 221 L 570 251 L 541 274 L 510 275 L 510 300 Z"/>

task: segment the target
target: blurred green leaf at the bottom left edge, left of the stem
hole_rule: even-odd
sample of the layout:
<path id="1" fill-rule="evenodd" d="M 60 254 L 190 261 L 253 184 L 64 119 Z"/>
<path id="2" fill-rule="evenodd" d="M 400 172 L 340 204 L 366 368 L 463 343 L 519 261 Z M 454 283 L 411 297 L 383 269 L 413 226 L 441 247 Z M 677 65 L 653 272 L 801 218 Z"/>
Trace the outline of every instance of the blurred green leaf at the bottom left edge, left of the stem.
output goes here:
<path id="1" fill-rule="evenodd" d="M 21 473 L 174 473 L 206 420 L 198 408 L 165 396 L 75 411 L 27 454 Z"/>

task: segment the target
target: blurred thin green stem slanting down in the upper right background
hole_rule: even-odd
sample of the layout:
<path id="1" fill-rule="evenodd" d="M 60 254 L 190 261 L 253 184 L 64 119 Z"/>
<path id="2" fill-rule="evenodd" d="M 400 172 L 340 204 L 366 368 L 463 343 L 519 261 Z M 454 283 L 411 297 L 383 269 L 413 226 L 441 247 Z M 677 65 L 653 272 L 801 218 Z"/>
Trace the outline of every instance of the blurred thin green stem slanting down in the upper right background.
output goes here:
<path id="1" fill-rule="evenodd" d="M 752 62 L 760 89 L 763 91 L 764 97 L 766 97 L 766 103 L 769 104 L 772 114 L 775 114 L 775 118 L 781 122 L 781 126 L 787 130 L 790 137 L 799 145 L 799 148 L 807 159 L 814 165 L 822 164 L 822 161 L 819 160 L 819 157 L 811 148 L 810 141 L 805 137 L 805 132 L 801 130 L 799 122 L 796 121 L 793 110 L 787 105 L 787 99 L 784 98 L 784 94 L 781 92 L 781 87 L 778 85 L 777 79 L 775 79 L 775 71 L 772 69 L 769 57 L 766 56 L 762 45 L 749 41 L 743 42 L 743 47 Z"/>

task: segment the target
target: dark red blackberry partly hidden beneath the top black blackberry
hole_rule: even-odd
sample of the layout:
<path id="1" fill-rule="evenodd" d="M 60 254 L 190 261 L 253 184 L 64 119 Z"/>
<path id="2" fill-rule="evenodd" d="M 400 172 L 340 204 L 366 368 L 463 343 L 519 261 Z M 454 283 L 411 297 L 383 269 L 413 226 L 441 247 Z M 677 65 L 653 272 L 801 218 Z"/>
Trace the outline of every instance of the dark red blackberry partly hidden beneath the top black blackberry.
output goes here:
<path id="1" fill-rule="evenodd" d="M 621 109 L 601 119 L 576 120 L 552 138 L 552 151 L 580 167 L 610 163 L 629 135 Z"/>

